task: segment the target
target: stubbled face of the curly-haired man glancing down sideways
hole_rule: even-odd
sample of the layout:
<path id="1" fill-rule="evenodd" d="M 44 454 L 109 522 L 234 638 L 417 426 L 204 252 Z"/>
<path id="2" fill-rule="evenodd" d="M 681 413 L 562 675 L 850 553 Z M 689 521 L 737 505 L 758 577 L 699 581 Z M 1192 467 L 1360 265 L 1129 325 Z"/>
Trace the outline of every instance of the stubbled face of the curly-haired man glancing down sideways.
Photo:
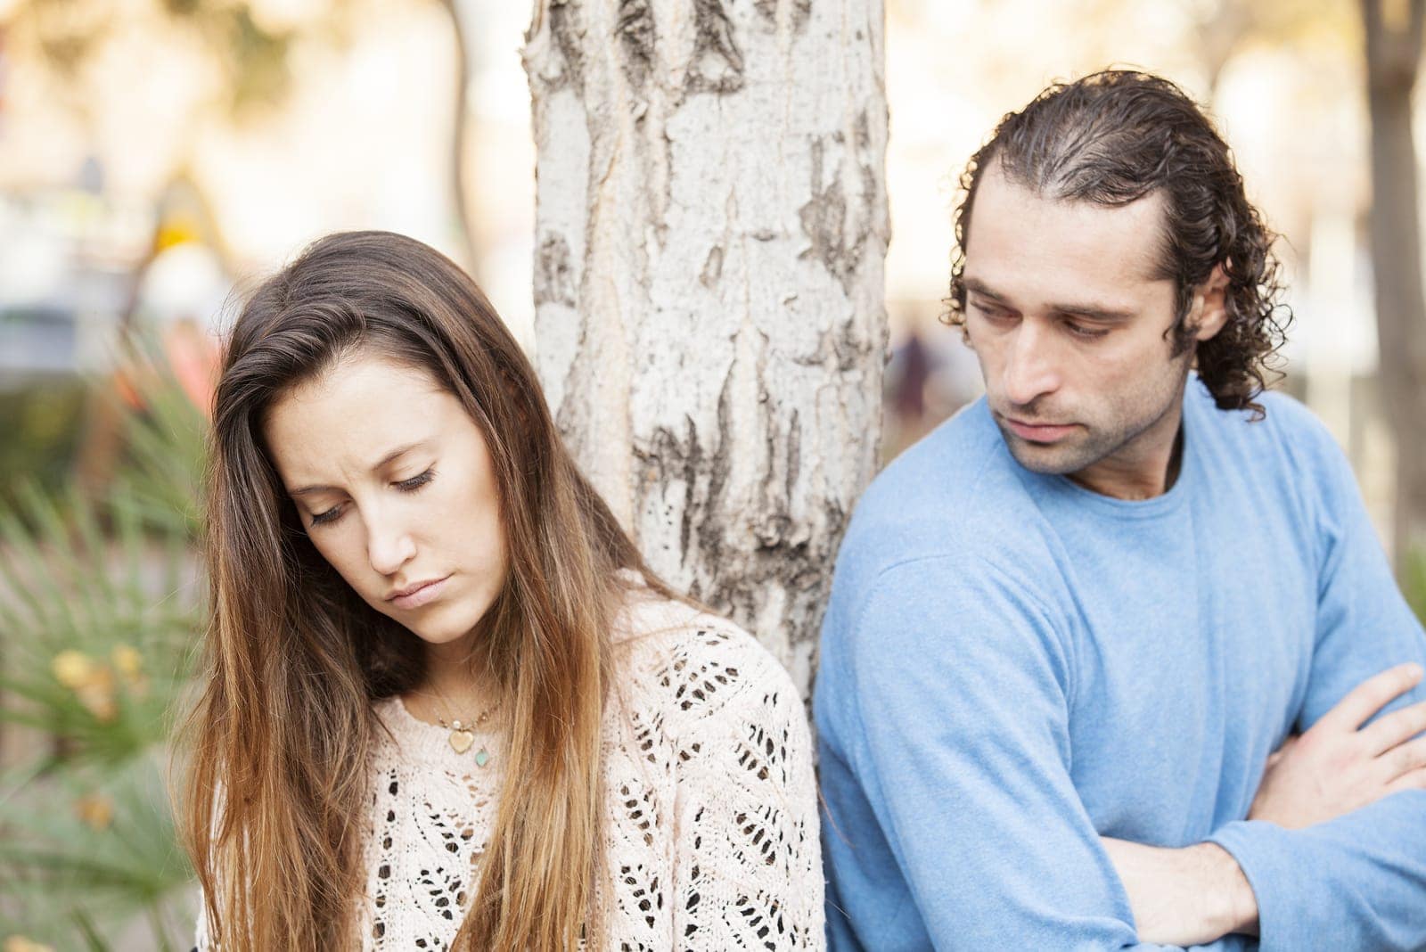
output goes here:
<path id="1" fill-rule="evenodd" d="M 1156 192 L 1118 208 L 1058 201 L 998 162 L 985 168 L 967 234 L 965 332 L 1027 469 L 1109 496 L 1164 490 L 1192 355 L 1174 356 L 1166 333 L 1162 219 Z M 1198 294 L 1189 314 L 1199 339 L 1221 325 L 1221 294 L 1208 304 Z"/>

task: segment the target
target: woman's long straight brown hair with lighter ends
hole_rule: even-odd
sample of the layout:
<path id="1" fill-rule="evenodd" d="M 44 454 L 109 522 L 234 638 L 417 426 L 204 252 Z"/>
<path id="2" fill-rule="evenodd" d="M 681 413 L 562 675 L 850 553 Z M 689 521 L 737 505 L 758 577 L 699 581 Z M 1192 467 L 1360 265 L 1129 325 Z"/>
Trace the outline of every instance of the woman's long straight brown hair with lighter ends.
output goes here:
<path id="1" fill-rule="evenodd" d="M 372 703 L 424 677 L 416 637 L 308 540 L 262 443 L 275 399 L 356 349 L 422 368 L 455 395 L 499 486 L 509 573 L 481 621 L 478 664 L 508 711 L 506 790 L 455 948 L 555 952 L 586 931 L 595 948 L 615 573 L 637 569 L 670 593 L 580 476 L 475 282 L 426 245 L 372 231 L 322 238 L 258 286 L 217 386 L 212 607 L 180 811 L 210 935 L 228 952 L 355 942 L 369 795 L 359 767 L 381 730 Z"/>

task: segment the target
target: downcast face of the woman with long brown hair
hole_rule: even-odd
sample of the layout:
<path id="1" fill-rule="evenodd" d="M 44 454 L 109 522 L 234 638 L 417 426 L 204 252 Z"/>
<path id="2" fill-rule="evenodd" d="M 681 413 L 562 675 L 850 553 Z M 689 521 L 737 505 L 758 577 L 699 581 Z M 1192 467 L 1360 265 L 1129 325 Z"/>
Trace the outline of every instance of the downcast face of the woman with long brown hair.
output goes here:
<path id="1" fill-rule="evenodd" d="M 262 426 L 317 550 L 431 646 L 463 640 L 505 583 L 485 438 L 421 369 L 358 351 L 289 389 Z"/>

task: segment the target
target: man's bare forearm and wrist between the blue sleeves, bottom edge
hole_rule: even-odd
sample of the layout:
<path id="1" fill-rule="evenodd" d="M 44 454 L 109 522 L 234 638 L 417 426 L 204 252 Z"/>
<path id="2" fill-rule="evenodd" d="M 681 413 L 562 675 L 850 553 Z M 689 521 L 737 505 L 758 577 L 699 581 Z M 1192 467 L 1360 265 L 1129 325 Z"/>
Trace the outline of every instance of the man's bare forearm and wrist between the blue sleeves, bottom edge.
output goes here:
<path id="1" fill-rule="evenodd" d="M 1189 946 L 1232 932 L 1256 935 L 1252 886 L 1222 847 L 1169 849 L 1109 837 L 1101 841 L 1129 895 L 1141 941 Z"/>

